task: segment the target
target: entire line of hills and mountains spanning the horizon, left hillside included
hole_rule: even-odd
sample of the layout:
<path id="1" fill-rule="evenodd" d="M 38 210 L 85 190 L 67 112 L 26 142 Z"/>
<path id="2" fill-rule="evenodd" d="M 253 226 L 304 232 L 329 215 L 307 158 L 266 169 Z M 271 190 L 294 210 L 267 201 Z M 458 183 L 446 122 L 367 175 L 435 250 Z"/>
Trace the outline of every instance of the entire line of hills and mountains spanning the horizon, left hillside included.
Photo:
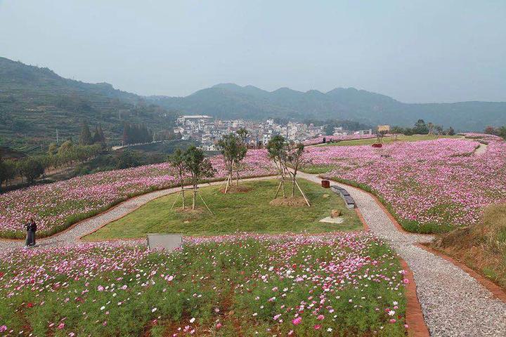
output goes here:
<path id="1" fill-rule="evenodd" d="M 100 123 L 108 140 L 118 142 L 123 122 L 169 129 L 178 114 L 208 114 L 221 119 L 278 117 L 304 121 L 352 120 L 363 124 L 411 126 L 417 119 L 457 131 L 482 131 L 506 124 L 506 103 L 401 103 L 355 88 L 327 93 L 217 84 L 186 97 L 141 96 L 110 84 L 65 79 L 47 68 L 0 58 L 0 146 L 30 150 L 56 136 L 76 136 L 82 121 Z"/>

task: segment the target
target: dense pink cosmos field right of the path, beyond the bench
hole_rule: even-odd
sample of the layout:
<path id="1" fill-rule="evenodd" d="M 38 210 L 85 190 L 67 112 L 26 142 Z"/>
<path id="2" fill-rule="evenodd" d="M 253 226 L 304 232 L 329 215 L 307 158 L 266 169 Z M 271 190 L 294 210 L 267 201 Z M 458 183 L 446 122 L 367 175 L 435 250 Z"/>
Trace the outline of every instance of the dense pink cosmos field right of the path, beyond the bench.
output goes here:
<path id="1" fill-rule="evenodd" d="M 377 194 L 406 230 L 443 232 L 479 221 L 484 206 L 506 201 L 506 143 L 488 143 L 474 154 L 477 139 L 441 138 L 365 146 L 311 147 L 309 171 Z"/>

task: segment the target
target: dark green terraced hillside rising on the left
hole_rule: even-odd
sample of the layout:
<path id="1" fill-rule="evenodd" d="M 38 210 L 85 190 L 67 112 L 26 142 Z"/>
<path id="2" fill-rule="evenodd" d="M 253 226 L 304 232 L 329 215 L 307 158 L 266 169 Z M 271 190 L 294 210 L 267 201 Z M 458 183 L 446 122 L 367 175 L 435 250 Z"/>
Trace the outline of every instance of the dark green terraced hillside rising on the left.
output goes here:
<path id="1" fill-rule="evenodd" d="M 80 124 L 100 123 L 108 140 L 119 141 L 123 122 L 171 128 L 174 112 L 113 88 L 64 79 L 47 68 L 0 58 L 0 145 L 30 150 L 56 136 L 77 139 Z"/>

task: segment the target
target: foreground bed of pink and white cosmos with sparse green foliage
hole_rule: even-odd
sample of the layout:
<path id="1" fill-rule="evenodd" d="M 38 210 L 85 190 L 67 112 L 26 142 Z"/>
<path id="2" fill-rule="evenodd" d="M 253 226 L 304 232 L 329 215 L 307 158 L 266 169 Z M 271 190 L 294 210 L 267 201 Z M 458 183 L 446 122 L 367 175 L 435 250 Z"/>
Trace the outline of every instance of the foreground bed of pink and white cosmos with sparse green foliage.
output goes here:
<path id="1" fill-rule="evenodd" d="M 0 252 L 6 336 L 406 336 L 396 254 L 365 232 Z"/>

